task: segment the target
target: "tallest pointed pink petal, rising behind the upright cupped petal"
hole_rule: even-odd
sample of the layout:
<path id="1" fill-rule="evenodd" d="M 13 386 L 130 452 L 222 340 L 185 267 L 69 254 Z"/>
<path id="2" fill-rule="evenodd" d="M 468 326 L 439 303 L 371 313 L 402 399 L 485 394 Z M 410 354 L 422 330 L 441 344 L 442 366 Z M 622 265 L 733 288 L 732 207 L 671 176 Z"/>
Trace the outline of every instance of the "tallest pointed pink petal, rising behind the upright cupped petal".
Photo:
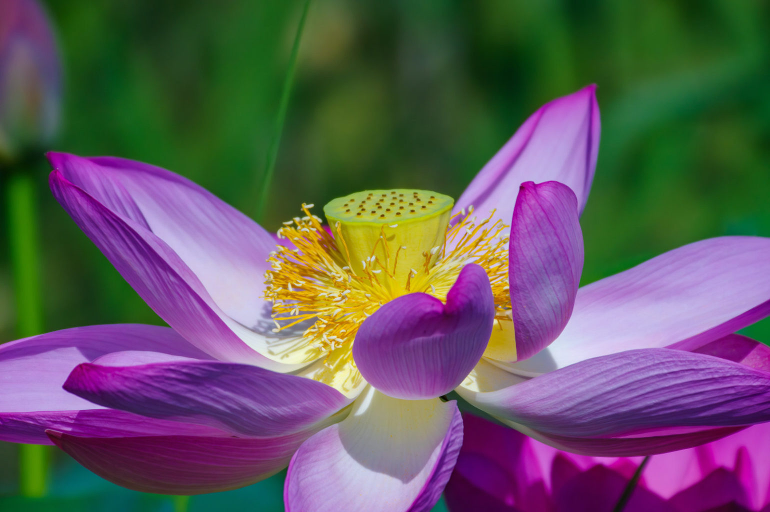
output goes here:
<path id="1" fill-rule="evenodd" d="M 477 174 L 454 212 L 470 205 L 507 224 L 521 183 L 555 180 L 570 187 L 582 212 L 591 189 L 599 150 L 596 86 L 589 85 L 543 105 L 521 125 Z"/>

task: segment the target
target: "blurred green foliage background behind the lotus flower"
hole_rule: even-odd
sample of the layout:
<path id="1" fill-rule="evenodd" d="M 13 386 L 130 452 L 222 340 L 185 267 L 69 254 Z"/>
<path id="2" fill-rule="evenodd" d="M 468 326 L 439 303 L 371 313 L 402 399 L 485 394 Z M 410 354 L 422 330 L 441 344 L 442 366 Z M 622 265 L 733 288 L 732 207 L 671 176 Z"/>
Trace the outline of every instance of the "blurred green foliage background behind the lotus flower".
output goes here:
<path id="1" fill-rule="evenodd" d="M 52 149 L 152 162 L 249 214 L 303 2 L 49 2 L 65 63 Z M 697 239 L 770 236 L 770 4 L 761 0 L 313 0 L 264 225 L 367 188 L 457 197 L 538 106 L 599 85 L 583 283 Z M 159 323 L 47 190 L 45 329 Z M 5 239 L 5 223 L 0 239 Z M 0 340 L 14 337 L 8 251 Z M 747 334 L 770 341 L 770 322 Z M 188 503 L 112 486 L 59 454 L 51 496 L 0 509 L 282 510 L 279 477 Z"/>

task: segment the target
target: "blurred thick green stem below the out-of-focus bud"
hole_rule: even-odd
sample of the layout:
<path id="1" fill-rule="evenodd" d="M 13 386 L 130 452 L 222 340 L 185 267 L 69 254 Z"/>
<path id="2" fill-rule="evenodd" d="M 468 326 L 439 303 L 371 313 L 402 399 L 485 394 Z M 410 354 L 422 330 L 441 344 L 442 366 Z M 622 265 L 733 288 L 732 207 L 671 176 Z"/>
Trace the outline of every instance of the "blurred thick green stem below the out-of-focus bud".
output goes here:
<path id="1" fill-rule="evenodd" d="M 35 212 L 35 183 L 28 172 L 8 176 L 8 246 L 15 283 L 16 330 L 19 337 L 42 333 L 42 296 Z M 22 445 L 19 486 L 27 497 L 41 497 L 48 487 L 49 448 Z"/>

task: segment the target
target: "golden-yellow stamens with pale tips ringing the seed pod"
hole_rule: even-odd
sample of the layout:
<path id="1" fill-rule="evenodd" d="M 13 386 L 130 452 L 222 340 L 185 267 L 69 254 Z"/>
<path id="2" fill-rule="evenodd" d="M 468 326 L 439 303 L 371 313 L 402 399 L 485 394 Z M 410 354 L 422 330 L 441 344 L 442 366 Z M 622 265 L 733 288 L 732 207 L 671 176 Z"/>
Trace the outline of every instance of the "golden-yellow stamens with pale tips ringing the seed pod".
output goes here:
<path id="1" fill-rule="evenodd" d="M 276 355 L 293 363 L 321 360 L 323 367 L 313 372 L 314 379 L 343 392 L 358 387 L 363 379 L 351 355 L 358 326 L 384 303 L 406 293 L 429 293 L 445 301 L 467 263 L 487 271 L 497 318 L 510 321 L 506 226 L 493 222 L 491 215 L 480 223 L 471 218 L 472 209 L 452 217 L 444 243 L 423 251 L 419 268 L 403 276 L 397 273 L 398 261 L 409 248 L 393 240 L 390 230 L 398 229 L 396 225 L 380 226 L 369 256 L 353 264 L 340 223 L 331 226 L 330 234 L 310 212 L 312 207 L 303 204 L 305 215 L 278 230 L 290 244 L 278 246 L 268 259 L 272 268 L 266 273 L 265 296 L 273 303 L 274 332 L 310 324 L 296 343 Z"/>

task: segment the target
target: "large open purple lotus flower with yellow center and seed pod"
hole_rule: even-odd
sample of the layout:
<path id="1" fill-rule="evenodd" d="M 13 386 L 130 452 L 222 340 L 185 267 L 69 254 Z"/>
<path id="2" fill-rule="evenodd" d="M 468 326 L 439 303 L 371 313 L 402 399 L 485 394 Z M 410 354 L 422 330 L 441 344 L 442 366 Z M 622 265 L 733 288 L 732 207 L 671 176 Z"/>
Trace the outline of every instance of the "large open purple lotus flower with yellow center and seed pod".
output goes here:
<path id="1" fill-rule="evenodd" d="M 731 336 L 768 313 L 770 239 L 695 243 L 578 292 L 598 138 L 591 86 L 532 115 L 457 204 L 360 192 L 328 225 L 303 205 L 277 239 L 164 169 L 50 155 L 56 199 L 170 328 L 2 346 L 2 439 L 137 490 L 288 464 L 287 510 L 428 510 L 462 442 L 453 389 L 584 452 L 770 420 L 767 352 Z"/>

